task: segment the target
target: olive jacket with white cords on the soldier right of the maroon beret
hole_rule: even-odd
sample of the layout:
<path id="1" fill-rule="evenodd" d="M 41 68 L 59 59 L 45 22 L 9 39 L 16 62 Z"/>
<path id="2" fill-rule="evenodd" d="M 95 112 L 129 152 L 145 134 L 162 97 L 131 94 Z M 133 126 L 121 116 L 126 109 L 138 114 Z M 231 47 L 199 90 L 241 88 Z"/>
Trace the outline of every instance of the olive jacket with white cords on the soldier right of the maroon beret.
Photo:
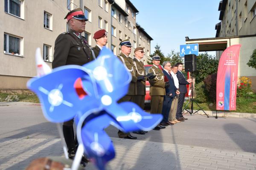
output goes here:
<path id="1" fill-rule="evenodd" d="M 137 95 L 137 77 L 136 77 L 136 68 L 134 66 L 134 62 L 131 57 L 126 57 L 125 54 L 120 53 L 117 57 L 121 60 L 121 62 L 125 65 L 125 67 L 130 71 L 132 79 L 129 86 L 128 93 L 126 95 Z"/>

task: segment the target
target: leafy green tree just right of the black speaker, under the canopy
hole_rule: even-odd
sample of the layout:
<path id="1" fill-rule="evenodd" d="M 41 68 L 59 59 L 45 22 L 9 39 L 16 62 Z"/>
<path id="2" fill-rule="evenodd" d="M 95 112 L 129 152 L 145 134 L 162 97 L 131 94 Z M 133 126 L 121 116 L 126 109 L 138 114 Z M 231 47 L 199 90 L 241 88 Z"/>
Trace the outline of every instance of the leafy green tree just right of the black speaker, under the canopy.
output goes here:
<path id="1" fill-rule="evenodd" d="M 207 52 L 199 54 L 196 59 L 197 71 L 194 72 L 195 82 L 199 83 L 203 81 L 208 75 L 217 73 L 218 60 L 212 55 L 208 55 Z"/>

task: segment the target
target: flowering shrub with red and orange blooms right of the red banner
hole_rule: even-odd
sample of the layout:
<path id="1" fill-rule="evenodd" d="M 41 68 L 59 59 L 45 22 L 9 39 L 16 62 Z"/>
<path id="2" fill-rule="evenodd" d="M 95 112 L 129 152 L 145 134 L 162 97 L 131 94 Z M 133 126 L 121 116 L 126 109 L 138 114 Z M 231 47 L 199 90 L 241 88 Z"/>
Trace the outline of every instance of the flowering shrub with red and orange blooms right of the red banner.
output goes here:
<path id="1" fill-rule="evenodd" d="M 236 96 L 247 96 L 248 94 L 253 93 L 251 86 L 252 80 L 250 78 L 240 77 L 237 84 Z"/>

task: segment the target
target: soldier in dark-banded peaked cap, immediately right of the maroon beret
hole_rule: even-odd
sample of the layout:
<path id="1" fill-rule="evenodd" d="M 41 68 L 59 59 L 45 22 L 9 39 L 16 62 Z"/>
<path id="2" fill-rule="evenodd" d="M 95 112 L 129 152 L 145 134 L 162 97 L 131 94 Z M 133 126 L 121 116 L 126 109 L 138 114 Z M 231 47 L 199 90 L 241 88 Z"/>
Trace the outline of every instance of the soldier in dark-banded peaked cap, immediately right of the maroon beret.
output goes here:
<path id="1" fill-rule="evenodd" d="M 138 80 L 136 76 L 136 68 L 134 66 L 134 62 L 129 57 L 131 54 L 131 42 L 127 39 L 122 42 L 120 42 L 121 46 L 121 53 L 117 55 L 117 57 L 121 60 L 121 62 L 124 64 L 125 68 L 127 68 L 128 71 L 131 72 L 131 83 L 129 85 L 128 93 L 123 96 L 118 102 L 134 102 L 134 96 L 137 94 L 137 86 L 136 82 Z M 143 79 L 144 77 L 140 77 L 140 79 Z M 119 138 L 125 138 L 125 139 L 137 139 L 137 137 L 131 136 L 130 133 L 124 133 L 121 130 L 118 131 Z"/>

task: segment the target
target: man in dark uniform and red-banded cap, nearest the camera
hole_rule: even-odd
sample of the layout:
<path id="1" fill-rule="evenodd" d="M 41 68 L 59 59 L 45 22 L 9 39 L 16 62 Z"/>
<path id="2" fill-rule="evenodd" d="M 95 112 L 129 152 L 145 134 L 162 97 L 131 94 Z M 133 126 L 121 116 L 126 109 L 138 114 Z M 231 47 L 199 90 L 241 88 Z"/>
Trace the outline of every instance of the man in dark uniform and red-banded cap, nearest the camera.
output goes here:
<path id="1" fill-rule="evenodd" d="M 67 19 L 70 29 L 68 32 L 60 34 L 55 40 L 52 68 L 62 65 L 84 65 L 90 62 L 89 45 L 85 37 L 81 36 L 87 21 L 84 12 L 81 8 L 74 9 L 64 19 Z M 63 123 L 63 134 L 70 159 L 74 159 L 78 146 L 78 142 L 75 140 L 73 122 L 72 119 Z M 85 166 L 86 162 L 87 159 L 83 156 L 81 165 Z"/>

